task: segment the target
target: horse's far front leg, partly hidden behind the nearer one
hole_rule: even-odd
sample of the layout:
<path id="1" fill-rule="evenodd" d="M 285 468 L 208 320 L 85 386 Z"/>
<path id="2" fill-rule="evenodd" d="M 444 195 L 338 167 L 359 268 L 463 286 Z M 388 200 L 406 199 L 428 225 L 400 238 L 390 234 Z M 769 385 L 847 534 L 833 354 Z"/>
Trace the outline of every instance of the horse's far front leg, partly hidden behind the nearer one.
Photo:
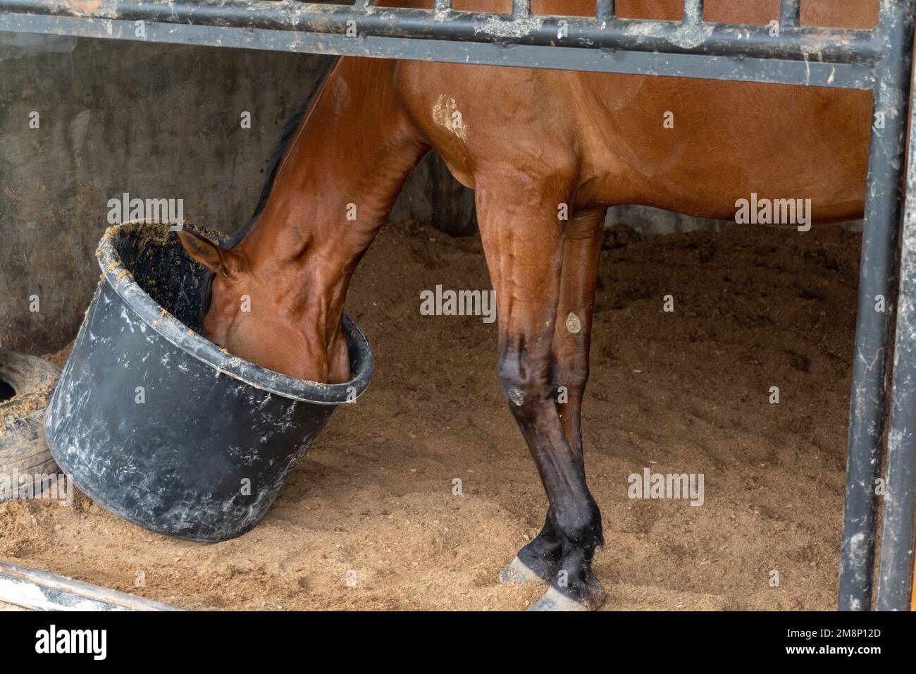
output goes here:
<path id="1" fill-rule="evenodd" d="M 583 465 L 582 401 L 588 381 L 594 289 L 601 257 L 606 208 L 577 213 L 563 232 L 560 297 L 551 343 L 551 391 L 566 442 Z M 550 582 L 560 568 L 562 537 L 551 524 L 551 513 L 528 545 L 499 574 L 504 583 Z M 601 593 L 594 577 L 594 593 Z"/>

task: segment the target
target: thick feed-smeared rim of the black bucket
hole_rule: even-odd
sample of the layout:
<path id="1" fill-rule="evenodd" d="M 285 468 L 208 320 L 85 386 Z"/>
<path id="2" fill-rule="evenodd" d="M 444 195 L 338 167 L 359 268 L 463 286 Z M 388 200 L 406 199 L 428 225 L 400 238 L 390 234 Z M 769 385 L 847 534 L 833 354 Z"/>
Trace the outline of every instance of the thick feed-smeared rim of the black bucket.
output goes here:
<path id="1" fill-rule="evenodd" d="M 99 246 L 95 250 L 95 257 L 102 269 L 104 281 L 159 336 L 164 337 L 192 358 L 216 370 L 217 376 L 220 373 L 227 374 L 256 389 L 284 398 L 303 403 L 337 405 L 354 403 L 365 392 L 375 371 L 375 361 L 368 338 L 349 315 L 344 314 L 344 335 L 347 340 L 347 356 L 350 359 L 351 371 L 354 371 L 354 376 L 350 381 L 326 384 L 320 381 L 297 379 L 267 370 L 267 368 L 222 351 L 209 339 L 181 323 L 140 287 L 115 249 L 116 238 L 128 227 L 162 227 L 165 228 L 166 236 L 171 234 L 171 230 L 166 223 L 131 220 L 105 229 Z M 181 227 L 210 238 L 213 243 L 217 243 L 220 236 L 211 229 L 187 222 L 182 223 Z"/>

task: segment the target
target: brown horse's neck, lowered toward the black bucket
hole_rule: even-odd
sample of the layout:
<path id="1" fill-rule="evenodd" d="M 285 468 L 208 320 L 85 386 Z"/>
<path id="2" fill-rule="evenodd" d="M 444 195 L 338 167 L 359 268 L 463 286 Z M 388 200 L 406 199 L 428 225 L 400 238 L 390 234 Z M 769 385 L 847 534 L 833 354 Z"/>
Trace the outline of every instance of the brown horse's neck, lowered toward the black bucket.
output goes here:
<path id="1" fill-rule="evenodd" d="M 425 147 L 394 95 L 391 61 L 342 59 L 305 117 L 256 226 L 239 244 L 278 293 L 304 305 L 329 343 L 356 264 Z"/>

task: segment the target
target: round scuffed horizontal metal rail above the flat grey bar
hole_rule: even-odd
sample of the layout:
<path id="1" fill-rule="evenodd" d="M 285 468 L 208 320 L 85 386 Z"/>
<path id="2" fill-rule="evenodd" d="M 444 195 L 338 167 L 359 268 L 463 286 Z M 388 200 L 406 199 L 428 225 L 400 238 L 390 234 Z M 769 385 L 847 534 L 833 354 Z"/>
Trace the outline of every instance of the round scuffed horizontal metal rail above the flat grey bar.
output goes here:
<path id="1" fill-rule="evenodd" d="M 387 7 L 358 12 L 351 6 L 265 0 L 172 0 L 168 3 L 93 0 L 90 12 L 82 9 L 87 5 L 73 0 L 0 0 L 0 11 L 83 17 L 87 22 L 124 19 L 322 34 L 345 33 L 348 22 L 355 19 L 361 38 L 449 39 L 542 46 L 555 43 L 558 30 L 562 28 L 564 47 L 829 63 L 877 63 L 884 52 L 874 31 L 837 28 L 787 28 L 781 32 L 780 39 L 773 39 L 767 26 L 686 25 L 679 21 L 629 19 L 617 19 L 602 26 L 592 17 L 537 16 L 517 20 L 503 14 L 453 11 L 437 15 L 429 9 Z"/>

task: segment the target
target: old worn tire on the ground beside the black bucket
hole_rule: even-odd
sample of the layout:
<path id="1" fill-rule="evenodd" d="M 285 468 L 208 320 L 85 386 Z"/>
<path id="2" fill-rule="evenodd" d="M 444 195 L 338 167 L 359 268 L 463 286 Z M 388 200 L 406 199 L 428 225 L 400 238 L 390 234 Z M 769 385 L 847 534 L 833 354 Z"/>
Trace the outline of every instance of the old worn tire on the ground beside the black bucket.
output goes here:
<path id="1" fill-rule="evenodd" d="M 47 360 L 0 349 L 0 502 L 18 495 L 14 476 L 57 472 L 45 412 L 58 377 Z"/>

